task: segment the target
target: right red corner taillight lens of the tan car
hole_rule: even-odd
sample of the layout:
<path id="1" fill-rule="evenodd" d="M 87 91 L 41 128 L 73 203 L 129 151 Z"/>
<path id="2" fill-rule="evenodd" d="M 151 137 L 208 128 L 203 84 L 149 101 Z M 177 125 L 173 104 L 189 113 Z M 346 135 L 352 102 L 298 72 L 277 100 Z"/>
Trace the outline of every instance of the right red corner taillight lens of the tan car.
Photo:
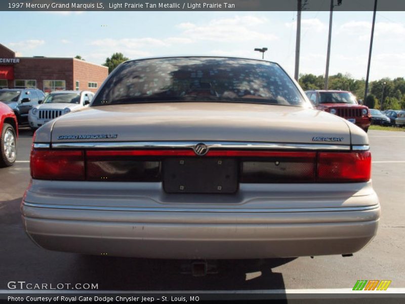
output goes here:
<path id="1" fill-rule="evenodd" d="M 370 151 L 348 153 L 319 153 L 318 181 L 362 182 L 370 180 Z"/>

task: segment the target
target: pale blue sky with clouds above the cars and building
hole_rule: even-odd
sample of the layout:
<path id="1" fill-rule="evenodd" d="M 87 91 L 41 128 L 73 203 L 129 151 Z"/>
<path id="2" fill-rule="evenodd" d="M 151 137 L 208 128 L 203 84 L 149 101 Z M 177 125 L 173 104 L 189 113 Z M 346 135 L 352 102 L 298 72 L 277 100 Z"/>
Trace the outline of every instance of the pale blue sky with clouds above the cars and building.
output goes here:
<path id="1" fill-rule="evenodd" d="M 330 75 L 366 78 L 373 12 L 334 12 Z M 370 80 L 405 77 L 405 12 L 377 12 Z M 297 12 L 0 12 L 0 43 L 20 57 L 114 52 L 136 59 L 220 55 L 265 59 L 294 75 Z M 12 25 L 12 26 L 10 26 Z M 303 12 L 300 73 L 325 73 L 329 12 Z"/>

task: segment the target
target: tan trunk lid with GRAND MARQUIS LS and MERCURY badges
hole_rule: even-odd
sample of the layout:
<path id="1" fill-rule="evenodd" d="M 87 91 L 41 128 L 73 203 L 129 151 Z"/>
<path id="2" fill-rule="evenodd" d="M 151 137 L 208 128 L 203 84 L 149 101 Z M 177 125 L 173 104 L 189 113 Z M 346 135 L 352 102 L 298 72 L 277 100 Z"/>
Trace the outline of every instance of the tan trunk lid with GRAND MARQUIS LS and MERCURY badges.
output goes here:
<path id="1" fill-rule="evenodd" d="M 341 118 L 310 108 L 212 102 L 90 107 L 60 117 L 52 130 L 53 143 L 190 140 L 347 145 L 350 132 Z"/>

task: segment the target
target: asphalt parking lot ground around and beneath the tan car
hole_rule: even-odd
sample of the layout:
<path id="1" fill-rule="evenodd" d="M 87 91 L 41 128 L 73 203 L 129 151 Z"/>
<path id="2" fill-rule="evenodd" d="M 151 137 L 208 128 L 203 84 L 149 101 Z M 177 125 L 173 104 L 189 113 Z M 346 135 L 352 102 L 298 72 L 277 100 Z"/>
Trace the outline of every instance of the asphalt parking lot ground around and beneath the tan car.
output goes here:
<path id="1" fill-rule="evenodd" d="M 35 246 L 23 231 L 19 209 L 30 179 L 32 134 L 20 130 L 17 163 L 0 169 L 0 290 L 18 280 L 146 291 L 352 288 L 357 280 L 392 280 L 390 288 L 405 288 L 405 132 L 370 130 L 369 138 L 382 217 L 365 249 L 352 257 L 219 261 L 217 274 L 192 277 L 181 273 L 178 260 L 89 257 Z"/>

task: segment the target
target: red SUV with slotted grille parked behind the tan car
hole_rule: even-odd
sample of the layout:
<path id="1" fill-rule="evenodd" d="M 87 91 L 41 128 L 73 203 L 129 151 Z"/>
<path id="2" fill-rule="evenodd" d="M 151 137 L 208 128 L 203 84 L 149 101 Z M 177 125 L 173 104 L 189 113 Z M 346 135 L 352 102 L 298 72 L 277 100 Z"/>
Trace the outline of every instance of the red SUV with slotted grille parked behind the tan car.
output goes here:
<path id="1" fill-rule="evenodd" d="M 366 132 L 371 125 L 371 113 L 367 106 L 358 104 L 348 91 L 314 90 L 305 94 L 315 108 L 347 119 Z"/>

